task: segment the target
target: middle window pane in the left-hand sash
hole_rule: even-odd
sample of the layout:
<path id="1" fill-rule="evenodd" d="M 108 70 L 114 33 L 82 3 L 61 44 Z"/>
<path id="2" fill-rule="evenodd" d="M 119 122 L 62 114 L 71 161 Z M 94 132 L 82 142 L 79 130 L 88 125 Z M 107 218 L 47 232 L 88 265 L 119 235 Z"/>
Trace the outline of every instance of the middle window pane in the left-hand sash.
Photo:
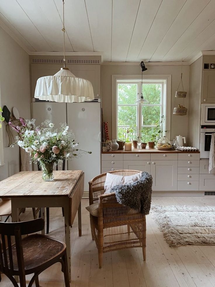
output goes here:
<path id="1" fill-rule="evenodd" d="M 137 107 L 136 106 L 118 106 L 118 126 L 136 126 Z"/>

